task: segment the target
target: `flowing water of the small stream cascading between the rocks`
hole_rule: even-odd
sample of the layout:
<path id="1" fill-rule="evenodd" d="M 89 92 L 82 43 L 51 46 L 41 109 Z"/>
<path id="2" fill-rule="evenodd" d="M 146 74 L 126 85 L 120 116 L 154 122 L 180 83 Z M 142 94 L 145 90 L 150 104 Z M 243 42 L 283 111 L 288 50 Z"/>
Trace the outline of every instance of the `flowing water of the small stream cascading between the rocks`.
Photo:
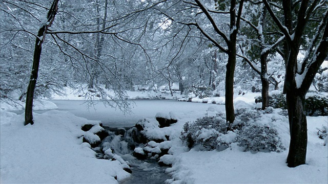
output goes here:
<path id="1" fill-rule="evenodd" d="M 100 147 L 95 148 L 97 157 L 102 159 L 108 159 L 108 155 L 99 151 L 99 149 L 106 150 L 111 148 L 114 154 L 123 158 L 130 166 L 132 176 L 122 182 L 122 184 L 162 184 L 171 177 L 165 174 L 165 170 L 168 167 L 159 166 L 154 159 L 139 160 L 132 156 L 135 147 L 142 147 L 142 144 L 135 143 L 130 137 L 129 131 L 131 127 L 124 128 L 111 128 L 104 127 L 109 136 L 106 137 L 101 143 Z M 104 149 L 105 148 L 105 149 Z"/>

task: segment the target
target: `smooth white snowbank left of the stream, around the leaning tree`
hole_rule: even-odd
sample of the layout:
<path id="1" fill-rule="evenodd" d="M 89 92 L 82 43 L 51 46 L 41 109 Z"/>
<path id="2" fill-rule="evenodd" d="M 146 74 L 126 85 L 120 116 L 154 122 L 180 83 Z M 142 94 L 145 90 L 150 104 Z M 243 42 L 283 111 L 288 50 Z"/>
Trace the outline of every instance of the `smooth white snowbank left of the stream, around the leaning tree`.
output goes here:
<path id="1" fill-rule="evenodd" d="M 120 162 L 96 159 L 82 143 L 81 126 L 99 122 L 52 110 L 34 113 L 34 125 L 23 123 L 24 114 L 1 111 L 1 183 L 118 183 L 130 177 Z"/>

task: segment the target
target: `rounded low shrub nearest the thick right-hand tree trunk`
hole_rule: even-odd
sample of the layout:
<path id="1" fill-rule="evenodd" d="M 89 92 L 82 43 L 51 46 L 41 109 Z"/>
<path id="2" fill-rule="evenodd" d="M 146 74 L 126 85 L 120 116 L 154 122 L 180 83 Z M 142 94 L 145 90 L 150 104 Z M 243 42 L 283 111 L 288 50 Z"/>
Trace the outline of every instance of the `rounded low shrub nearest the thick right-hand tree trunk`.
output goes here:
<path id="1" fill-rule="evenodd" d="M 277 130 L 265 125 L 248 124 L 238 131 L 238 145 L 244 151 L 275 151 L 285 150 Z"/>

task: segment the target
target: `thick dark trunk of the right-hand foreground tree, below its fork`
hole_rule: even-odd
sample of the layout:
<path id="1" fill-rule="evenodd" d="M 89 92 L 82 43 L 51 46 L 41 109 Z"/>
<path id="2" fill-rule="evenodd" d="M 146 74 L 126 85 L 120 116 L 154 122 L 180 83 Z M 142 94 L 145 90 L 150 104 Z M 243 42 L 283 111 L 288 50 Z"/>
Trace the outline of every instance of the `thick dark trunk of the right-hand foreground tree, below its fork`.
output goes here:
<path id="1" fill-rule="evenodd" d="M 299 96 L 288 91 L 286 94 L 289 113 L 291 142 L 287 157 L 288 167 L 305 164 L 308 128 L 304 111 L 305 95 Z"/>

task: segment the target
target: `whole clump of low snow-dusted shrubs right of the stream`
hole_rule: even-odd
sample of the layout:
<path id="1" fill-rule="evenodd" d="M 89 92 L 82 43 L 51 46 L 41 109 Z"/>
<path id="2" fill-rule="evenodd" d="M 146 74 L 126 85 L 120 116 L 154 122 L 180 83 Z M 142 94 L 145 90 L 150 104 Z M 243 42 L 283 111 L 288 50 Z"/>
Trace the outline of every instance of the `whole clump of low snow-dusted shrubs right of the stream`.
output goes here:
<path id="1" fill-rule="evenodd" d="M 285 148 L 277 130 L 273 125 L 269 126 L 261 121 L 274 122 L 287 119 L 280 117 L 279 114 L 269 116 L 270 112 L 274 110 L 239 109 L 231 127 L 228 126 L 223 113 L 217 114 L 216 117 L 199 118 L 183 126 L 180 139 L 186 142 L 189 148 L 198 145 L 201 150 L 221 151 L 237 142 L 244 151 L 280 152 Z"/>

